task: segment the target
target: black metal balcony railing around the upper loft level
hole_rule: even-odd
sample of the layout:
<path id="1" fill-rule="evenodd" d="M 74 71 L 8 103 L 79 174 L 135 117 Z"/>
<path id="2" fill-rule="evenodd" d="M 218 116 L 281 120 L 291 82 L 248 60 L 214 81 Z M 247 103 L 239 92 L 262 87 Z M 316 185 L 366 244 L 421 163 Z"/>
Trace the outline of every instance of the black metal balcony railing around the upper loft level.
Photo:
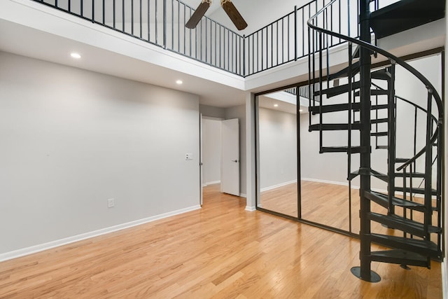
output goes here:
<path id="1" fill-rule="evenodd" d="M 205 16 L 195 29 L 186 28 L 185 23 L 195 10 L 179 0 L 32 1 L 243 77 L 306 57 L 309 45 L 315 43 L 308 33 L 307 20 L 329 2 L 313 0 L 256 32 L 241 36 Z M 372 2 L 372 10 L 380 7 L 379 1 Z M 396 0 L 381 1 L 389 4 Z M 358 36 L 358 4 L 350 2 L 353 1 L 338 0 L 317 22 L 330 25 L 334 32 Z M 323 43 L 333 47 L 344 41 L 330 37 Z"/>

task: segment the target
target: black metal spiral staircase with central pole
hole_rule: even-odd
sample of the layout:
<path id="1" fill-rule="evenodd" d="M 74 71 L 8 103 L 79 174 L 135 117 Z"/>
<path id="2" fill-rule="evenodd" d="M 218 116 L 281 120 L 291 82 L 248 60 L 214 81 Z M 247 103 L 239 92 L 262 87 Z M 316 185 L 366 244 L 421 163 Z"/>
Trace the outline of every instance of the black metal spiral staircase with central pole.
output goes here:
<path id="1" fill-rule="evenodd" d="M 372 1 L 360 0 L 360 38 L 353 39 L 332 32 L 328 22 L 322 21 L 335 2 L 337 0 L 330 1 L 308 21 L 310 41 L 313 41 L 309 50 L 309 92 L 314 92 L 309 106 L 309 131 L 319 133 L 320 153 L 347 153 L 349 181 L 360 177 L 360 267 L 353 267 L 351 272 L 360 279 L 375 282 L 380 277 L 371 270 L 372 262 L 430 268 L 431 260 L 442 260 L 444 155 L 440 95 L 419 71 L 374 46 L 371 28 L 376 38 L 397 33 L 387 32 L 388 28 L 396 31 L 396 27 L 387 22 L 399 19 L 397 15 L 403 15 L 404 5 L 407 5 L 408 15 L 409 5 L 413 6 L 418 18 L 409 17 L 409 26 L 400 30 L 435 20 L 433 12 L 440 18 L 441 13 L 440 9 L 428 8 L 427 1 L 416 0 L 400 1 L 400 4 L 386 7 L 384 13 L 370 13 Z M 442 7 L 443 18 L 444 1 L 431 3 Z M 419 8 L 419 5 L 423 6 Z M 332 38 L 348 41 L 348 66 L 333 74 L 330 73 L 328 47 L 328 39 Z M 382 60 L 384 67 L 373 69 L 372 57 Z M 395 95 L 395 68 L 398 66 L 426 88 L 424 101 Z M 346 83 L 339 85 L 339 81 Z M 332 102 L 336 96 L 338 102 Z M 340 101 L 342 97 L 344 102 Z M 412 155 L 408 156 L 400 153 L 404 145 L 402 138 L 397 138 L 401 134 L 397 131 L 397 115 L 402 107 L 414 111 L 410 116 L 414 118 L 414 126 L 407 127 L 409 132 L 406 133 L 410 136 L 406 146 L 412 148 Z M 337 115 L 342 121 L 335 123 L 330 115 Z M 346 132 L 346 144 L 325 144 L 325 134 L 334 131 Z M 419 134 L 422 131 L 423 136 Z M 387 173 L 372 168 L 372 151 L 387 151 L 387 159 L 382 161 Z M 358 163 L 353 159 L 358 157 L 360 167 L 353 171 L 352 165 Z M 387 191 L 372 190 L 372 180 L 384 181 Z M 383 246 L 385 250 L 372 251 L 372 244 Z"/>

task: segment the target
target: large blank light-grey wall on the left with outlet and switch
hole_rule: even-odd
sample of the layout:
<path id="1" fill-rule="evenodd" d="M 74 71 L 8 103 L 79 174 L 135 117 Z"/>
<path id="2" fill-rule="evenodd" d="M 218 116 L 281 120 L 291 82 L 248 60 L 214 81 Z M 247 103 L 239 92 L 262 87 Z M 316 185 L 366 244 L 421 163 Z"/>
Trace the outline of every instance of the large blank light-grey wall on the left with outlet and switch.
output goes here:
<path id="1" fill-rule="evenodd" d="M 198 207 L 198 160 L 185 159 L 199 155 L 197 96 L 8 53 L 0 64 L 0 255 Z"/>

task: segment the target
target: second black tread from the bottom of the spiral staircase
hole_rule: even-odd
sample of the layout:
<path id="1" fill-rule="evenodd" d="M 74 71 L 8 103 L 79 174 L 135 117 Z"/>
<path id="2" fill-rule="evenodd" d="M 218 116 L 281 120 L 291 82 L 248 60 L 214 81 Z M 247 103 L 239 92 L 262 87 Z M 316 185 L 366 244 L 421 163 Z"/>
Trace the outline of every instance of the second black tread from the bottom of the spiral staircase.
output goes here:
<path id="1" fill-rule="evenodd" d="M 391 235 L 370 234 L 370 241 L 384 246 L 390 246 L 395 249 L 404 249 L 428 255 L 433 258 L 440 258 L 440 251 L 434 242 L 426 239 L 411 239 L 406 237 L 397 237 Z"/>

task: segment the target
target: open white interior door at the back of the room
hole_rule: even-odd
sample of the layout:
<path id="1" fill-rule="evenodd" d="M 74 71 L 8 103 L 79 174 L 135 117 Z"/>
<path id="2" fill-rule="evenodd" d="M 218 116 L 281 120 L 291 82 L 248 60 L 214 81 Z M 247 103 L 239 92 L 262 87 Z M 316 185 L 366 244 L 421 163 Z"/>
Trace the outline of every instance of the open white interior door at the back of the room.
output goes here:
<path id="1" fill-rule="evenodd" d="M 239 121 L 223 120 L 221 125 L 221 192 L 239 196 Z"/>

